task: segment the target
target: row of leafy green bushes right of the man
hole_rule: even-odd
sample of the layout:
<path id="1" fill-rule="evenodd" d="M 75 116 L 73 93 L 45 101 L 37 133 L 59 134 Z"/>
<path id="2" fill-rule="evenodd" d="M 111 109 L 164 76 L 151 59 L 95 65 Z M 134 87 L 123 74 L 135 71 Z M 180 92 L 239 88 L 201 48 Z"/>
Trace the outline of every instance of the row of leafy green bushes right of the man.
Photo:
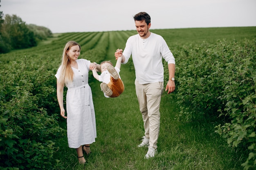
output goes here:
<path id="1" fill-rule="evenodd" d="M 256 168 L 256 41 L 218 40 L 178 46 L 176 55 L 179 119 L 208 117 L 232 147 L 248 150 L 245 170 Z M 165 73 L 168 77 L 168 73 Z"/>

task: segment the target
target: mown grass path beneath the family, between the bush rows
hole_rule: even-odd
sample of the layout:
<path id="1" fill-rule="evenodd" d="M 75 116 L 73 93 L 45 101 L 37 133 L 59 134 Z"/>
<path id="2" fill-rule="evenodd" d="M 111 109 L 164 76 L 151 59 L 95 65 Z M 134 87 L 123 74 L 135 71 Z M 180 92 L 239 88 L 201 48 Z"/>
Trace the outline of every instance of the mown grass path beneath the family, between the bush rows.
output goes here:
<path id="1" fill-rule="evenodd" d="M 226 141 L 214 133 L 214 124 L 206 120 L 175 120 L 175 96 L 163 94 L 158 155 L 144 159 L 147 148 L 137 148 L 144 135 L 143 121 L 134 88 L 134 73 L 121 66 L 125 92 L 118 98 L 104 98 L 99 83 L 91 84 L 97 120 L 97 139 L 86 159 L 88 170 L 239 170 L 243 155 L 228 148 Z M 65 128 L 65 124 L 63 124 Z M 67 170 L 82 170 L 76 152 L 60 144 L 58 159 Z"/>

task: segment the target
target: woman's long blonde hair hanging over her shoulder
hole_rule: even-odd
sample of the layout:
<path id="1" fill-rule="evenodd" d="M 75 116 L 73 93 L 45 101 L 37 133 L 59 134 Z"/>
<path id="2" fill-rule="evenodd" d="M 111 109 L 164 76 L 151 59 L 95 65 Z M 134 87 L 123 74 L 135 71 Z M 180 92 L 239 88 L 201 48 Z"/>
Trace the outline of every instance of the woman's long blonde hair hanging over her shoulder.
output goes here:
<path id="1" fill-rule="evenodd" d="M 72 47 L 72 46 L 79 46 L 79 49 L 81 49 L 81 46 L 74 41 L 69 41 L 65 45 L 63 49 L 63 54 L 62 54 L 62 59 L 61 59 L 61 75 L 60 78 L 58 79 L 58 82 L 67 85 L 70 82 L 73 82 L 73 77 L 74 77 L 74 72 L 70 66 L 71 60 L 70 57 L 67 56 L 67 51 Z"/>

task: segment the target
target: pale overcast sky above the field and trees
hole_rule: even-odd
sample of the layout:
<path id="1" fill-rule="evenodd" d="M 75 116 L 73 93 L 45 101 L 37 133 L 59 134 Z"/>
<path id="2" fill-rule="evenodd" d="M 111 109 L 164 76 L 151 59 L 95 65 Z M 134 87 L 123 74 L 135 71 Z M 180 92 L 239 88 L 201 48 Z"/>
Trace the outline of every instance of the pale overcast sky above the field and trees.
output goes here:
<path id="1" fill-rule="evenodd" d="M 150 29 L 256 26 L 256 0 L 0 0 L 4 15 L 52 33 L 135 30 L 147 12 Z"/>

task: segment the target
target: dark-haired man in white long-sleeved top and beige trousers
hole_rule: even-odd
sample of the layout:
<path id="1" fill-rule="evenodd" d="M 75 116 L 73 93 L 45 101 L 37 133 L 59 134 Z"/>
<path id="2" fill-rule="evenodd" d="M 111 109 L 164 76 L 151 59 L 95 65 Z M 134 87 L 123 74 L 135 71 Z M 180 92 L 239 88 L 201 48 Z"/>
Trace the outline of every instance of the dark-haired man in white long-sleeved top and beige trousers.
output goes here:
<path id="1" fill-rule="evenodd" d="M 145 129 L 145 136 L 138 147 L 148 146 L 148 152 L 145 155 L 148 159 L 157 153 L 159 107 L 164 91 L 162 58 L 168 62 L 169 81 L 165 89 L 168 94 L 175 90 L 175 58 L 164 38 L 149 31 L 151 23 L 148 13 L 140 12 L 133 18 L 138 34 L 130 36 L 124 51 L 117 49 L 115 57 L 116 59 L 122 57 L 122 64 L 126 64 L 132 55 L 136 76 L 135 90 Z"/>

